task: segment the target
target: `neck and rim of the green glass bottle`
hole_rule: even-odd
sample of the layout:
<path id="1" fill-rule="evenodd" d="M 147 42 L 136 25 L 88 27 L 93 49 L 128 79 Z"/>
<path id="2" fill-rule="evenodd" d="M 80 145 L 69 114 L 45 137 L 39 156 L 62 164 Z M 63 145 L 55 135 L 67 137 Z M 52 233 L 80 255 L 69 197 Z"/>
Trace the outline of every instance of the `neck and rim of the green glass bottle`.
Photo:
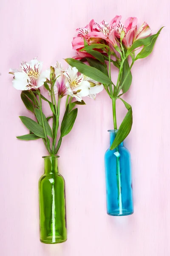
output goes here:
<path id="1" fill-rule="evenodd" d="M 44 173 L 58 173 L 58 157 L 44 157 Z"/>

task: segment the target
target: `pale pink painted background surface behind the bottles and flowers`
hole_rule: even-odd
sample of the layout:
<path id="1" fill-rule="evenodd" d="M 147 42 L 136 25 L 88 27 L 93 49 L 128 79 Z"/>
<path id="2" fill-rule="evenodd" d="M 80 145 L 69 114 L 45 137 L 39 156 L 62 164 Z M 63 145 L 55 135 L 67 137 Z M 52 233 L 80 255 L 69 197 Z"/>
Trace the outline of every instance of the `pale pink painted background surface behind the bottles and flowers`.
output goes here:
<path id="1" fill-rule="evenodd" d="M 0 255 L 1 256 L 169 256 L 170 255 L 170 2 L 169 0 L 1 0 L 0 3 Z M 111 217 L 105 207 L 104 153 L 113 128 L 105 92 L 85 99 L 59 151 L 65 177 L 68 241 L 39 241 L 38 179 L 42 141 L 24 142 L 19 115 L 30 113 L 12 87 L 10 67 L 38 56 L 44 69 L 74 52 L 78 26 L 116 14 L 146 20 L 153 33 L 166 26 L 152 55 L 136 61 L 124 99 L 133 108 L 125 141 L 132 156 L 134 214 Z M 65 101 L 65 100 L 63 100 Z M 63 102 L 64 110 L 64 102 Z M 119 103 L 118 122 L 126 110 Z M 45 111 L 50 113 L 49 109 Z"/>

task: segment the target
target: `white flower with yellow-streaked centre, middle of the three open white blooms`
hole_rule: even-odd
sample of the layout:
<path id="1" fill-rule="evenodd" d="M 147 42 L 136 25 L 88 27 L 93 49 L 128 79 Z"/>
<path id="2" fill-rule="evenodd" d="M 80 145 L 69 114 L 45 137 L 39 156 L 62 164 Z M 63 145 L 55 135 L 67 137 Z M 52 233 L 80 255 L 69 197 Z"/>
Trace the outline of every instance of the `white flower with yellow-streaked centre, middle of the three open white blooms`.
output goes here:
<path id="1" fill-rule="evenodd" d="M 65 86 L 68 89 L 68 95 L 75 97 L 77 101 L 81 102 L 82 97 L 89 94 L 89 82 L 83 81 L 83 75 L 77 76 L 77 72 L 76 67 L 68 67 L 63 75 L 67 78 Z"/>

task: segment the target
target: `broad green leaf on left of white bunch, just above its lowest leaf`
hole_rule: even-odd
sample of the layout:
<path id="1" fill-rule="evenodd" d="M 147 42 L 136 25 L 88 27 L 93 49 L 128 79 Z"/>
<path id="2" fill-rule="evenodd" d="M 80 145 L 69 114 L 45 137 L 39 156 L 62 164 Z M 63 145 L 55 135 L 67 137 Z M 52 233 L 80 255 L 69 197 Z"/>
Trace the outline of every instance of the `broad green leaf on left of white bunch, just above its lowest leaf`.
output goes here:
<path id="1" fill-rule="evenodd" d="M 38 137 L 45 138 L 45 134 L 41 125 L 39 125 L 37 122 L 35 122 L 34 120 L 32 120 L 27 116 L 19 116 L 19 117 L 23 122 L 23 124 L 26 126 L 26 128 L 28 128 Z"/>

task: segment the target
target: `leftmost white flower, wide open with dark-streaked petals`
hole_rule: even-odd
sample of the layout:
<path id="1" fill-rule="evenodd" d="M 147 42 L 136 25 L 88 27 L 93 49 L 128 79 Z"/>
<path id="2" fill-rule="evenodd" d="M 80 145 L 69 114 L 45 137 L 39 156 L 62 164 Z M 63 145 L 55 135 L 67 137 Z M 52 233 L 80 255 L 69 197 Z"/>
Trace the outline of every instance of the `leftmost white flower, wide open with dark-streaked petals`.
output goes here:
<path id="1" fill-rule="evenodd" d="M 17 90 L 38 89 L 44 84 L 47 77 L 47 70 L 42 72 L 42 62 L 36 58 L 30 62 L 21 63 L 21 71 L 10 70 L 14 75 L 13 86 Z"/>

